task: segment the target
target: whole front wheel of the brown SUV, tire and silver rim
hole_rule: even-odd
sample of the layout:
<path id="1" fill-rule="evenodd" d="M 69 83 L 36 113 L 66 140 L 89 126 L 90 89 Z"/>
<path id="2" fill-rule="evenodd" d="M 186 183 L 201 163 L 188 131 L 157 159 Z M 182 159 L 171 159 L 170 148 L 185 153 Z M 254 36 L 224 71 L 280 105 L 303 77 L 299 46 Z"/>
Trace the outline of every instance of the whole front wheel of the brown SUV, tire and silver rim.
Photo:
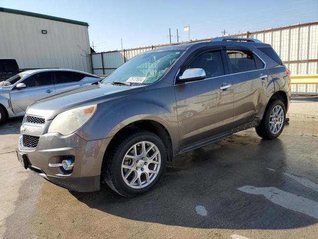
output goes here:
<path id="1" fill-rule="evenodd" d="M 150 190 L 161 177 L 167 153 L 158 135 L 142 130 L 127 135 L 105 158 L 103 176 L 124 197 Z"/>

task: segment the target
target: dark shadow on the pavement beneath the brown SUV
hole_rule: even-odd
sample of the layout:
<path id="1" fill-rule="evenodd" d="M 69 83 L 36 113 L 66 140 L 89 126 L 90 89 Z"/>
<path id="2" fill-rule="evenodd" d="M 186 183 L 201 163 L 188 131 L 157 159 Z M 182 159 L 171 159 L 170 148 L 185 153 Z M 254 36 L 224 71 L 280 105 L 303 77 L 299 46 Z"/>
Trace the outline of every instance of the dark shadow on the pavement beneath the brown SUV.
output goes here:
<path id="1" fill-rule="evenodd" d="M 262 195 L 238 190 L 245 185 L 293 187 L 286 183 L 283 173 L 288 150 L 285 136 L 281 137 L 261 140 L 256 134 L 235 134 L 179 155 L 168 163 L 153 190 L 133 199 L 117 195 L 106 184 L 99 192 L 70 193 L 89 208 L 125 219 L 163 225 L 291 229 L 315 224 L 318 220 L 273 204 Z M 293 190 L 302 193 L 299 192 L 302 189 Z M 202 207 L 197 211 L 198 206 L 205 212 L 201 212 Z"/>

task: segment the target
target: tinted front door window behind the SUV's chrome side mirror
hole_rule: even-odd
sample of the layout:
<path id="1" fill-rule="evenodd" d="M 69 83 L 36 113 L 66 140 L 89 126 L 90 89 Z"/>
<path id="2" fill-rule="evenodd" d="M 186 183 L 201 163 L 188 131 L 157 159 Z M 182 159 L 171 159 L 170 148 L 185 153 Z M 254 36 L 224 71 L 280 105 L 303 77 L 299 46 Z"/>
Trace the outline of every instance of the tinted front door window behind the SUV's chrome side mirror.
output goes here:
<path id="1" fill-rule="evenodd" d="M 187 67 L 202 68 L 207 78 L 224 75 L 221 51 L 204 52 L 197 56 Z"/>

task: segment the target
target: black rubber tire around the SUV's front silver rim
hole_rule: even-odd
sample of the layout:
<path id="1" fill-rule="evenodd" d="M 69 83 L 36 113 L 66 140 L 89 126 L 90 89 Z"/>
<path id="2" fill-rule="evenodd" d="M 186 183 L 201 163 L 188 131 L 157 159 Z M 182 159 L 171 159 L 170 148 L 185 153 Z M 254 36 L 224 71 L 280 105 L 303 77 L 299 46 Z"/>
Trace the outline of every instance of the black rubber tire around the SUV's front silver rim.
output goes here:
<path id="1" fill-rule="evenodd" d="M 161 164 L 159 168 L 159 173 L 153 182 L 148 186 L 140 189 L 131 188 L 128 186 L 122 177 L 122 162 L 127 151 L 136 143 L 141 141 L 149 141 L 157 146 L 161 156 Z M 167 161 L 167 152 L 162 140 L 157 134 L 154 134 L 147 130 L 141 130 L 136 132 L 131 132 L 121 141 L 117 141 L 115 146 L 108 155 L 105 155 L 102 168 L 102 175 L 108 186 L 113 189 L 118 194 L 132 198 L 138 194 L 145 193 L 155 186 L 159 181 Z"/>

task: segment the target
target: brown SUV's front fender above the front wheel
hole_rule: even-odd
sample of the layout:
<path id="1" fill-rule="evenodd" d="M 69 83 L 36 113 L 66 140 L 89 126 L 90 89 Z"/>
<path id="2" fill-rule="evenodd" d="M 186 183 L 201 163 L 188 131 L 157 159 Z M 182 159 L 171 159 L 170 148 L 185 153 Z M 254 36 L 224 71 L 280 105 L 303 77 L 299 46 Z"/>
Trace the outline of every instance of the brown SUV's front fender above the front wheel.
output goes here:
<path id="1" fill-rule="evenodd" d="M 148 119 L 167 129 L 172 147 L 176 148 L 179 136 L 174 90 L 172 86 L 157 90 L 160 92 L 149 90 L 98 104 L 95 115 L 77 134 L 85 140 L 108 138 L 132 122 Z"/>

